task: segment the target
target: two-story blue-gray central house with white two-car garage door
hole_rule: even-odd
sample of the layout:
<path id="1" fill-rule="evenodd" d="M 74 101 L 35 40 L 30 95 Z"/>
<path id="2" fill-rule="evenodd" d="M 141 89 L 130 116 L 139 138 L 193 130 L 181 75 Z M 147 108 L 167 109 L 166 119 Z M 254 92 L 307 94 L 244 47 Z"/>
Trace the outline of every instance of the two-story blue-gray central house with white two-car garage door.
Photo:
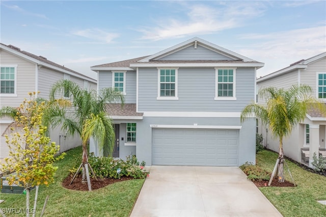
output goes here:
<path id="1" fill-rule="evenodd" d="M 193 38 L 154 55 L 93 66 L 98 90 L 115 87 L 125 106 L 107 105 L 114 156 L 147 165 L 239 166 L 255 163 L 256 119 L 240 122 L 255 100 L 264 64 Z M 91 144 L 91 152 L 101 155 Z"/>

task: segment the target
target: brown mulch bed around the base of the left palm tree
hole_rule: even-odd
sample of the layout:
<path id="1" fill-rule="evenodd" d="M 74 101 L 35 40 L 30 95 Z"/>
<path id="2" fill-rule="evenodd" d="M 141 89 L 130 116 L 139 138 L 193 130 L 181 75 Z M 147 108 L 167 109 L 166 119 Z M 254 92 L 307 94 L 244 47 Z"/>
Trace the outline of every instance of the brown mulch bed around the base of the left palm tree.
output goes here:
<path id="1" fill-rule="evenodd" d="M 82 176 L 78 175 L 72 182 L 71 185 L 71 179 L 72 179 L 72 175 L 68 176 L 67 178 L 65 178 L 62 182 L 62 186 L 64 186 L 65 188 L 71 189 L 71 190 L 77 190 L 77 191 L 88 191 L 88 185 L 87 182 L 86 183 L 82 183 Z M 126 180 L 130 180 L 133 179 L 132 177 L 126 177 L 126 176 L 122 176 L 120 179 L 110 179 L 110 178 L 106 178 L 106 179 L 99 179 L 97 178 L 91 178 L 91 186 L 92 186 L 92 190 L 95 189 L 99 189 L 102 187 L 105 187 L 106 185 L 109 184 L 113 184 L 116 182 L 120 182 L 120 181 L 126 181 Z"/>

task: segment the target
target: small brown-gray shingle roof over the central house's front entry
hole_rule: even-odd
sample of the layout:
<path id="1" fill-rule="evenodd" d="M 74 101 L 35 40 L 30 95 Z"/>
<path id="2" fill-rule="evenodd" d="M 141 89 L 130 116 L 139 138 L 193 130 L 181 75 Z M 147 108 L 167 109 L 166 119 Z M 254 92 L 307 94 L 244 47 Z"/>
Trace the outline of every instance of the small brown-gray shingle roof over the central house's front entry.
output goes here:
<path id="1" fill-rule="evenodd" d="M 120 103 L 106 104 L 106 113 L 110 116 L 143 116 L 143 113 L 136 112 L 135 103 L 125 103 L 122 107 Z"/>

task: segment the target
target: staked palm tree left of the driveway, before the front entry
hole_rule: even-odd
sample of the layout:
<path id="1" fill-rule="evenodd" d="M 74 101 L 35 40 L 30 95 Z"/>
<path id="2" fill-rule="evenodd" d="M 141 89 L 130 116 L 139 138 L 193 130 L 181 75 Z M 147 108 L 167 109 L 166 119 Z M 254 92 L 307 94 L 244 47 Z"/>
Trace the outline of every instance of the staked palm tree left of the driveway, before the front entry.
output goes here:
<path id="1" fill-rule="evenodd" d="M 83 167 L 83 182 L 87 179 L 89 191 L 91 191 L 88 173 L 88 140 L 93 137 L 104 153 L 112 154 L 115 132 L 111 119 L 105 114 L 105 104 L 121 102 L 123 105 L 124 96 L 113 88 L 104 88 L 96 93 L 94 90 L 83 90 L 71 80 L 61 80 L 52 86 L 50 101 L 55 100 L 56 96 L 67 95 L 72 99 L 73 111 L 65 107 L 49 110 L 45 122 L 52 127 L 61 125 L 62 130 L 67 134 L 80 136 L 83 141 L 83 159 L 77 173 Z"/>

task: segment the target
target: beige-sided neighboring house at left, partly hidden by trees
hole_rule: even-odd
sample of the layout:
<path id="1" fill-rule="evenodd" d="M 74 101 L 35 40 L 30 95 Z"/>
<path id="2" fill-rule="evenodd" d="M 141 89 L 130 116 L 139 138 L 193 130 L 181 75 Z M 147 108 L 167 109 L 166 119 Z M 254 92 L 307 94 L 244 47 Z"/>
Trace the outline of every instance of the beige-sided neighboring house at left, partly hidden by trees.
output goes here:
<path id="1" fill-rule="evenodd" d="M 28 92 L 40 91 L 37 97 L 48 99 L 51 86 L 62 79 L 73 80 L 87 90 L 96 89 L 96 80 L 12 45 L 0 44 L 0 59 L 0 107 L 18 107 L 29 98 Z M 10 118 L 0 119 L 0 135 L 10 123 Z M 51 130 L 50 137 L 60 145 L 61 152 L 81 145 L 78 137 L 66 137 L 59 128 Z M 4 158 L 9 150 L 5 138 L 0 138 L 0 158 Z"/>

